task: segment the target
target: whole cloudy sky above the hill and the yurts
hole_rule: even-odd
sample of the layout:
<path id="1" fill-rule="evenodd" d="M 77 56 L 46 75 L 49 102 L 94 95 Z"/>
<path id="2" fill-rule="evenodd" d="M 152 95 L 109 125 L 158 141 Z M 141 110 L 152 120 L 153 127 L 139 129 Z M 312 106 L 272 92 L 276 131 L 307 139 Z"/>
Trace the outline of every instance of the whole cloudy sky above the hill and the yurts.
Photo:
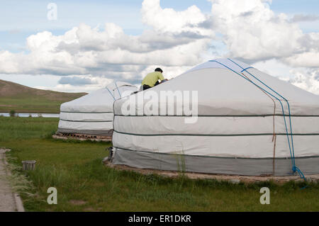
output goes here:
<path id="1" fill-rule="evenodd" d="M 0 79 L 91 92 L 230 57 L 319 94 L 318 0 L 0 0 Z"/>

